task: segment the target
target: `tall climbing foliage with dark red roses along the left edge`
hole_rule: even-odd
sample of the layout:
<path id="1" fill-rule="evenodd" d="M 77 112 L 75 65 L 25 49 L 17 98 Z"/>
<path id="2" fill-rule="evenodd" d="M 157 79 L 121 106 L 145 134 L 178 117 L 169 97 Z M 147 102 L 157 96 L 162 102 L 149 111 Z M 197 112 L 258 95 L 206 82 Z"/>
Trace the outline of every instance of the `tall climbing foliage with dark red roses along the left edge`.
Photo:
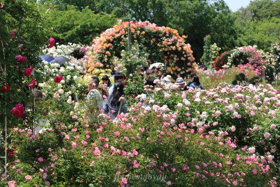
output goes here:
<path id="1" fill-rule="evenodd" d="M 0 87 L 8 83 L 10 90 L 0 90 L 0 128 L 4 126 L 4 113 L 7 113 L 8 127 L 22 122 L 22 118 L 15 118 L 10 110 L 17 103 L 25 108 L 23 117 L 28 119 L 26 124 L 31 125 L 31 112 L 27 112 L 31 104 L 32 75 L 24 76 L 24 69 L 30 65 L 36 69 L 41 60 L 38 55 L 47 43 L 49 28 L 45 18 L 40 14 L 35 0 L 2 0 L 0 8 Z M 11 34 L 11 36 L 10 36 Z M 13 35 L 12 35 L 13 34 Z M 17 61 L 15 56 L 26 57 L 26 62 Z M 6 70 L 6 77 L 4 75 Z M 35 74 L 36 75 L 36 74 Z M 35 77 L 36 78 L 36 77 Z M 25 87 L 25 89 L 23 89 Z M 26 88 L 27 87 L 27 88 Z"/>

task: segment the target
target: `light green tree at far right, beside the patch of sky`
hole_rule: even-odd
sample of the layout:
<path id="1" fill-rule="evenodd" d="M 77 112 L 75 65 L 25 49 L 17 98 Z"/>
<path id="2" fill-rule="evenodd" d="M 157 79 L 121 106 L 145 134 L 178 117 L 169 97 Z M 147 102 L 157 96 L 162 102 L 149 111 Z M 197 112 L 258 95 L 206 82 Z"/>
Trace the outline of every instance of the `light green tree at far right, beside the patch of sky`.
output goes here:
<path id="1" fill-rule="evenodd" d="M 255 0 L 234 12 L 237 46 L 257 45 L 267 51 L 271 43 L 280 42 L 279 6 L 279 0 Z"/>

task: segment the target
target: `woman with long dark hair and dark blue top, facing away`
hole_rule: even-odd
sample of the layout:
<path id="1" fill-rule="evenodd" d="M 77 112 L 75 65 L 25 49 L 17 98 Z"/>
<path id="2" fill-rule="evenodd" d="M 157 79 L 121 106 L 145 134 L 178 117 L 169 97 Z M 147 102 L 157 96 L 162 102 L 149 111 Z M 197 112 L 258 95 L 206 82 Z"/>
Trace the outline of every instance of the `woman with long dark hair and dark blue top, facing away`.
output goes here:
<path id="1" fill-rule="evenodd" d="M 111 119 L 114 119 L 120 113 L 128 113 L 128 104 L 126 101 L 119 101 L 119 98 L 124 95 L 123 91 L 124 84 L 122 81 L 118 80 L 113 85 L 112 94 L 106 98 L 106 103 L 104 105 L 104 113 L 109 113 Z"/>

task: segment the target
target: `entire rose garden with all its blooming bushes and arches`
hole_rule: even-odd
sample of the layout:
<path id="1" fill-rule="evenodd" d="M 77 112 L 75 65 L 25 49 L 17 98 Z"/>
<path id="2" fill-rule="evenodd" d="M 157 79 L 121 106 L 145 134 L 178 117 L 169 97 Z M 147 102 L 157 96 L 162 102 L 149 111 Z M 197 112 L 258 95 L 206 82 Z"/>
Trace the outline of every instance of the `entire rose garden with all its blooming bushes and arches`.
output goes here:
<path id="1" fill-rule="evenodd" d="M 222 51 L 206 35 L 196 59 L 176 29 L 118 19 L 90 43 L 61 44 L 53 8 L 40 8 L 0 6 L 0 186 L 279 185 L 278 43 Z M 117 72 L 128 107 L 112 119 L 99 102 Z M 193 72 L 203 89 L 178 88 Z M 87 98 L 92 76 L 101 100 Z"/>

